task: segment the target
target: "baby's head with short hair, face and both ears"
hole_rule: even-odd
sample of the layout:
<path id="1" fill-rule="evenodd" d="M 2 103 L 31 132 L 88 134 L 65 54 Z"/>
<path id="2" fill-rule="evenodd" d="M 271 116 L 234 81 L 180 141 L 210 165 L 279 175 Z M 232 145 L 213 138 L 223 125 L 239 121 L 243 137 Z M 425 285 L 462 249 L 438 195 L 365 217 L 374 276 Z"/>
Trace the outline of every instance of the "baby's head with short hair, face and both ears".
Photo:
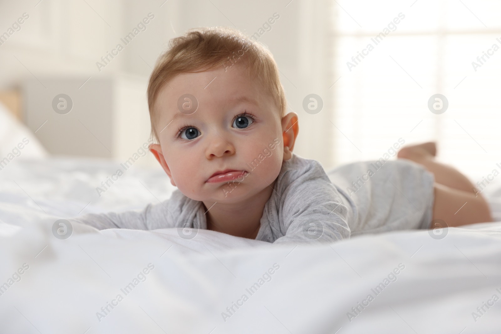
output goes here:
<path id="1" fill-rule="evenodd" d="M 148 105 L 150 150 L 171 183 L 206 202 L 269 192 L 299 130 L 272 54 L 227 28 L 191 30 L 169 46 L 151 74 Z"/>

